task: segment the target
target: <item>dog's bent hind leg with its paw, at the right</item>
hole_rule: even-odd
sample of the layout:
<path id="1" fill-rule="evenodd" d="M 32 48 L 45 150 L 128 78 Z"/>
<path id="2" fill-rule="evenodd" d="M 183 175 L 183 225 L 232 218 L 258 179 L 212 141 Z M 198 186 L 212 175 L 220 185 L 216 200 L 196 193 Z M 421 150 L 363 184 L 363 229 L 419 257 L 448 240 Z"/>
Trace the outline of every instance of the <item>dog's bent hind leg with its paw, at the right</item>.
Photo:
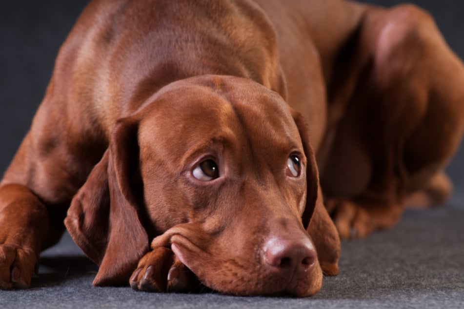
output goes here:
<path id="1" fill-rule="evenodd" d="M 464 126 L 464 67 L 427 13 L 370 8 L 358 44 L 369 55 L 365 73 L 323 175 L 342 237 L 393 226 L 413 193 L 438 190 L 427 198 L 443 202 L 443 169 Z"/>

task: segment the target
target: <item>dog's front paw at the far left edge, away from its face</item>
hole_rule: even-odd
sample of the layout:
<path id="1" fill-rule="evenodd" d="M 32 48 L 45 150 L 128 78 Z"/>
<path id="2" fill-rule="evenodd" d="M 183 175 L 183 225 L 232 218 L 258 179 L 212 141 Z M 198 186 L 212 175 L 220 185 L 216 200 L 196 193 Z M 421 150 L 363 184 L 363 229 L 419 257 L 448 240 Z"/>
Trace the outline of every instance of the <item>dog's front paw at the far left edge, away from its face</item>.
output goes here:
<path id="1" fill-rule="evenodd" d="M 37 272 L 37 256 L 32 250 L 0 244 L 0 289 L 26 289 Z"/>

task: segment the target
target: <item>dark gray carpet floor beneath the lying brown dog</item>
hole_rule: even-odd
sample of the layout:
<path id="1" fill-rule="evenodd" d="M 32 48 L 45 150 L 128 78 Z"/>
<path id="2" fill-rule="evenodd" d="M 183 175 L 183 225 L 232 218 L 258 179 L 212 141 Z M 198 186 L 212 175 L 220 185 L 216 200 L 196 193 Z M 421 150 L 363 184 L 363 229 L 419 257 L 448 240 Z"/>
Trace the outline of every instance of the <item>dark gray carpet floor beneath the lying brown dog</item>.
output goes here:
<path id="1" fill-rule="evenodd" d="M 464 209 L 408 211 L 392 230 L 343 241 L 340 270 L 304 299 L 96 288 L 97 267 L 65 234 L 43 253 L 31 289 L 0 291 L 0 307 L 464 308 Z"/>

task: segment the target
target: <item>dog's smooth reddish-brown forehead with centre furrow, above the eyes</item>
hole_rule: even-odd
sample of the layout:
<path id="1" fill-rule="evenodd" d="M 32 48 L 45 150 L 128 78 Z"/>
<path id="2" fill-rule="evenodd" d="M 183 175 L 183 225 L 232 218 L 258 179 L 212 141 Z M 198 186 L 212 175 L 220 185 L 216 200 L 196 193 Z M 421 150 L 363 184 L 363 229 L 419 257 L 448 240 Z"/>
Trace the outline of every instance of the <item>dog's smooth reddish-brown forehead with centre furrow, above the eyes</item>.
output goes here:
<path id="1" fill-rule="evenodd" d="M 235 144 L 247 139 L 269 147 L 300 148 L 298 128 L 282 97 L 255 82 L 234 78 L 230 84 L 230 80 L 212 80 L 169 87 L 142 119 L 141 134 L 149 136 L 141 140 L 162 135 L 161 142 L 176 144 L 179 151 L 218 138 Z"/>

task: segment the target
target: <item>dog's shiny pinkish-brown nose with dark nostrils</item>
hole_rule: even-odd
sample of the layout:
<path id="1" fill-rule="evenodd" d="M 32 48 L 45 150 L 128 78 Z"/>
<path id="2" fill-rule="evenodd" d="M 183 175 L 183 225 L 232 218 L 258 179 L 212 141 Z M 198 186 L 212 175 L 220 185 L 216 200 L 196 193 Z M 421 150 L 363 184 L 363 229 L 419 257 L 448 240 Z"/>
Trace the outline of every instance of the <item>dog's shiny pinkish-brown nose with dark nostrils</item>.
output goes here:
<path id="1" fill-rule="evenodd" d="M 264 262 L 274 271 L 293 275 L 309 270 L 317 255 L 307 237 L 274 236 L 266 241 L 262 251 Z"/>

